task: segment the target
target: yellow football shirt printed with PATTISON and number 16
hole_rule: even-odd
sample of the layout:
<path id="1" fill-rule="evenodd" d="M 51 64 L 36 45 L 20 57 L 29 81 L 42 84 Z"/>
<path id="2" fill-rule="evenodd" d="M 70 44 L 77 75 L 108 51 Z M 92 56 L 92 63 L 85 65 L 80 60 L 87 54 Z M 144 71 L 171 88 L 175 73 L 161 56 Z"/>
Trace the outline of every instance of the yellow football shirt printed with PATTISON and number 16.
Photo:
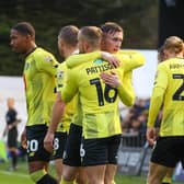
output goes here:
<path id="1" fill-rule="evenodd" d="M 123 78 L 123 69 L 113 69 L 101 59 L 83 62 L 67 71 L 67 81 L 61 89 L 61 99 L 69 102 L 76 94 L 82 108 L 84 138 L 104 138 L 122 134 L 117 89 L 103 83 L 102 71 L 113 70 Z"/>

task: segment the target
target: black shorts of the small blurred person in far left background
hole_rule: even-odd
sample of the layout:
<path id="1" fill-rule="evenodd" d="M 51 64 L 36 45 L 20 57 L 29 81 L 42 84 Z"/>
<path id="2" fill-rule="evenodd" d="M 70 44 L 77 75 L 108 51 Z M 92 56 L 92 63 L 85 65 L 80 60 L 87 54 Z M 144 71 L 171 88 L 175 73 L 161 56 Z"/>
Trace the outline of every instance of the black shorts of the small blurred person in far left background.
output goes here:
<path id="1" fill-rule="evenodd" d="M 18 147 L 18 129 L 16 128 L 12 128 L 8 133 L 8 147 L 9 148 Z"/>

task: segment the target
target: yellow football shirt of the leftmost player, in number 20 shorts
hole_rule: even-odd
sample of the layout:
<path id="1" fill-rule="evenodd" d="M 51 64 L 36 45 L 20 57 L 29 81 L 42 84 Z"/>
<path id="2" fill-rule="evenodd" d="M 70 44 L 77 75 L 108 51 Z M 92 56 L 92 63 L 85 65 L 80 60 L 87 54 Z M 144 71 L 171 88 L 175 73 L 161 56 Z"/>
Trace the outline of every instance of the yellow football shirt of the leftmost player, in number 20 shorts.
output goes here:
<path id="1" fill-rule="evenodd" d="M 49 124 L 56 97 L 57 66 L 55 57 L 43 48 L 36 48 L 25 58 L 26 126 Z"/>

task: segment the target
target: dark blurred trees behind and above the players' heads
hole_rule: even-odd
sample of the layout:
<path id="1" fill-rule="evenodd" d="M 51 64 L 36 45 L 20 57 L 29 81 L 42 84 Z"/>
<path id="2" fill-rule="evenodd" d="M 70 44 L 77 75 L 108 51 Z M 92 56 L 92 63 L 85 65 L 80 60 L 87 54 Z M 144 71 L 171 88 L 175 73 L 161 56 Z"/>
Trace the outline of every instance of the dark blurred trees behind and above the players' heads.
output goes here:
<path id="1" fill-rule="evenodd" d="M 24 59 L 10 48 L 10 28 L 20 21 L 31 22 L 36 43 L 61 60 L 57 35 L 61 26 L 100 26 L 115 21 L 124 28 L 123 48 L 156 49 L 158 0 L 1 0 L 0 76 L 21 76 Z"/>

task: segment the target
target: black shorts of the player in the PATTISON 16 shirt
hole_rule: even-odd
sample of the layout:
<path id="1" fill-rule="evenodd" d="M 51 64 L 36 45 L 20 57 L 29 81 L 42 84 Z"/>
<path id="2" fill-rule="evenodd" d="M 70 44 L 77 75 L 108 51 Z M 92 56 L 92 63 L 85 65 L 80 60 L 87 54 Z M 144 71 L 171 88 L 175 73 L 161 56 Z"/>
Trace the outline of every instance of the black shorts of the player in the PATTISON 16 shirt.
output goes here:
<path id="1" fill-rule="evenodd" d="M 120 135 L 107 138 L 82 139 L 80 150 L 82 166 L 117 164 L 119 143 Z"/>

